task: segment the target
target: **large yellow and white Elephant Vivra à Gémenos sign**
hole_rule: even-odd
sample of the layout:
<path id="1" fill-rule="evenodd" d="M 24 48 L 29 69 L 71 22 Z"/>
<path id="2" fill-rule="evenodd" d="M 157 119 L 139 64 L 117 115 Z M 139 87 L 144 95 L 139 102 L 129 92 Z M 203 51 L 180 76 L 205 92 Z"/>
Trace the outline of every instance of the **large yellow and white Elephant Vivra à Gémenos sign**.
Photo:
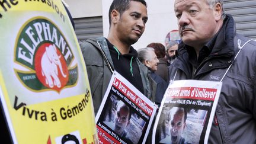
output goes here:
<path id="1" fill-rule="evenodd" d="M 0 25 L 1 110 L 12 142 L 95 143 L 87 71 L 62 2 L 1 1 Z"/>

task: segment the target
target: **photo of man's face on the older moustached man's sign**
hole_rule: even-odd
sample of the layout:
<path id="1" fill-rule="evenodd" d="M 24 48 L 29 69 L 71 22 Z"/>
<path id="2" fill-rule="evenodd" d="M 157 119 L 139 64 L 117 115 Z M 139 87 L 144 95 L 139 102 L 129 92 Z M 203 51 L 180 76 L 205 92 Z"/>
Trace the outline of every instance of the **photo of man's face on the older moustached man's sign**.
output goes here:
<path id="1" fill-rule="evenodd" d="M 164 105 L 155 143 L 199 143 L 207 111 Z"/>

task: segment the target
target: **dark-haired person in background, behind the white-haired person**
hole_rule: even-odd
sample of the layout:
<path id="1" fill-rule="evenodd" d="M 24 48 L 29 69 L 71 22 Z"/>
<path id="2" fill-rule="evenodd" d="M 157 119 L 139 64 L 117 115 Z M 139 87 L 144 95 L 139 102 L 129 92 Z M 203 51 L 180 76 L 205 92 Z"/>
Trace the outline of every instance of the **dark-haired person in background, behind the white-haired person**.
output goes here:
<path id="1" fill-rule="evenodd" d="M 146 47 L 152 47 L 155 50 L 155 54 L 159 60 L 158 62 L 158 69 L 155 73 L 161 76 L 166 82 L 169 81 L 169 74 L 168 74 L 168 62 L 165 59 L 165 46 L 161 43 L 150 43 Z"/>

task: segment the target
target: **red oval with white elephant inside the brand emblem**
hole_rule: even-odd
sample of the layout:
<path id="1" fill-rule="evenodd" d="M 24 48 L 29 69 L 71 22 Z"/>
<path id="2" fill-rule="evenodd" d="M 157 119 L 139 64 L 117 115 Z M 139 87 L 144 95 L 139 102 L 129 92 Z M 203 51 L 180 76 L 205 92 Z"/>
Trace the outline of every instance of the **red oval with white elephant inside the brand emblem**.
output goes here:
<path id="1" fill-rule="evenodd" d="M 69 75 L 64 57 L 51 43 L 40 46 L 39 52 L 40 55 L 36 54 L 36 75 L 39 81 L 45 87 L 60 91 L 68 82 Z"/>

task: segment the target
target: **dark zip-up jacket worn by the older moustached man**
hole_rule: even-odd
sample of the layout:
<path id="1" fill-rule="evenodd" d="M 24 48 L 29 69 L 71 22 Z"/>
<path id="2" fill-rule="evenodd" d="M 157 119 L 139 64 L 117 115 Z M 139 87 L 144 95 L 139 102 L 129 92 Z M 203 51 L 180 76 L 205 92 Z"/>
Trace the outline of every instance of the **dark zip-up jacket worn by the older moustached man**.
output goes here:
<path id="1" fill-rule="evenodd" d="M 220 81 L 232 65 L 222 81 L 209 143 L 256 143 L 256 42 L 237 34 L 232 16 L 226 15 L 219 33 L 206 45 L 209 55 L 197 65 L 191 47 L 181 43 L 170 79 Z"/>

